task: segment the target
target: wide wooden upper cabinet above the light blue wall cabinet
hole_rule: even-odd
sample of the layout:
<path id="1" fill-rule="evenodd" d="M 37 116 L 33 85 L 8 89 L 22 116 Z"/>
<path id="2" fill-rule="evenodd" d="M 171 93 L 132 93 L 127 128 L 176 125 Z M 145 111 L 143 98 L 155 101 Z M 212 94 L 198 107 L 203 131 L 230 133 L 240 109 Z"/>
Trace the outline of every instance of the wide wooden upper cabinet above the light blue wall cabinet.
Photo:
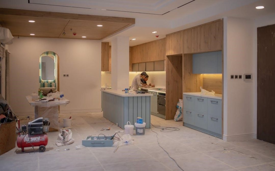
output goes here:
<path id="1" fill-rule="evenodd" d="M 222 50 L 223 21 L 216 20 L 183 30 L 183 53 Z"/>

